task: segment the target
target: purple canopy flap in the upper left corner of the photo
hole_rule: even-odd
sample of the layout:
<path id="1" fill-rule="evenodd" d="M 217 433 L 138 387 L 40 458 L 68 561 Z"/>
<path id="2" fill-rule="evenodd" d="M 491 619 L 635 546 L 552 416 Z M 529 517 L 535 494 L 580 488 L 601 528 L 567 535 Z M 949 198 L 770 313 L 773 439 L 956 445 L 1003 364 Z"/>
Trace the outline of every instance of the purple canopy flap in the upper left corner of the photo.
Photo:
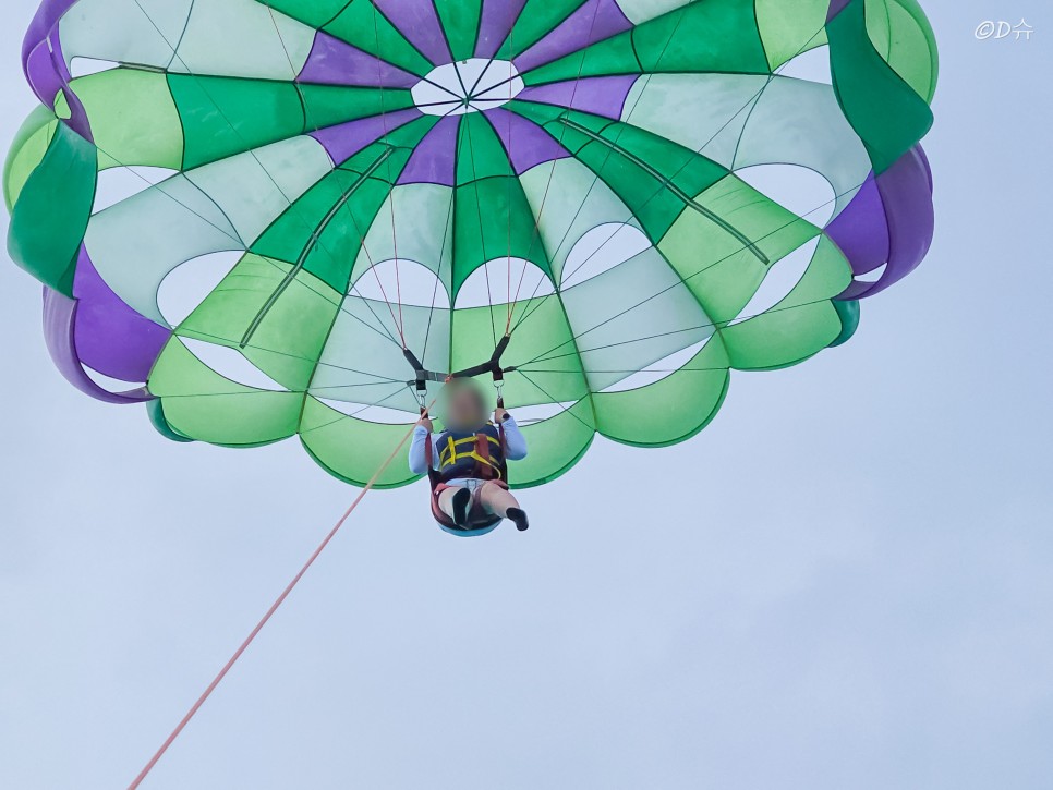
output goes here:
<path id="1" fill-rule="evenodd" d="M 55 108 L 55 97 L 61 90 L 70 106 L 70 118 L 64 123 L 87 141 L 94 142 L 84 105 L 70 90 L 73 76 L 62 56 L 59 20 L 76 0 L 45 0 L 29 23 L 22 44 L 22 69 L 33 92 L 46 107 Z"/>

